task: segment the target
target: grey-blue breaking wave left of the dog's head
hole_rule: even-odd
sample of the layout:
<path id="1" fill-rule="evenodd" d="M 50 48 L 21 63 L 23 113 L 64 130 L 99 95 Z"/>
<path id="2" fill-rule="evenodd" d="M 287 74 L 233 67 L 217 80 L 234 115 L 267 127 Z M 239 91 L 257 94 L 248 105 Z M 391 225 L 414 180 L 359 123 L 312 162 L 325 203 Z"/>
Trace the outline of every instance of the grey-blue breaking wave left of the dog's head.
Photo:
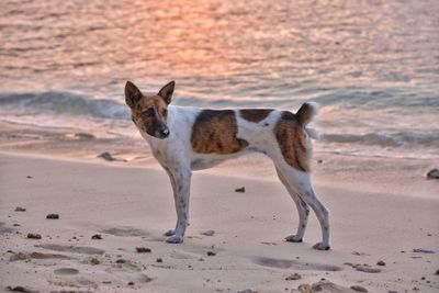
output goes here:
<path id="1" fill-rule="evenodd" d="M 111 100 L 93 100 L 65 91 L 0 93 L 0 108 L 26 114 L 49 112 L 100 119 L 130 119 L 130 110 L 126 105 Z"/>

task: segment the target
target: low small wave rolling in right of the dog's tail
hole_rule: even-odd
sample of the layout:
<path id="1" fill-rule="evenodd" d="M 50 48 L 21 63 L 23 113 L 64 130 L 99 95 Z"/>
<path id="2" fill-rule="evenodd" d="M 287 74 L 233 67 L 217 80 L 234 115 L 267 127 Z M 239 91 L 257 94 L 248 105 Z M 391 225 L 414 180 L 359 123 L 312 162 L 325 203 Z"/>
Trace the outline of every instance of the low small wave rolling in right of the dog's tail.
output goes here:
<path id="1" fill-rule="evenodd" d="M 365 134 L 323 134 L 322 142 L 337 144 L 375 145 L 383 147 L 435 147 L 439 148 L 439 131 L 396 132 Z"/>

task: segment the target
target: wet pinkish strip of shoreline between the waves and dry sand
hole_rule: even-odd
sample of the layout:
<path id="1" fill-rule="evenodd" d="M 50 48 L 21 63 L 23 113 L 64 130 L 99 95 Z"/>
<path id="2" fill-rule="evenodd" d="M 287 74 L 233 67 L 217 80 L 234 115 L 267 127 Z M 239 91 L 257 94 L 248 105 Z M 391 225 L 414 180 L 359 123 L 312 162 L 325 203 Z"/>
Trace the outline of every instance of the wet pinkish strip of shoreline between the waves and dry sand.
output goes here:
<path id="1" fill-rule="evenodd" d="M 83 132 L 75 128 L 45 128 L 0 122 L 0 153 L 31 157 L 55 158 L 67 161 L 91 162 L 109 167 L 136 167 L 161 170 L 150 154 L 147 143 L 138 138 L 126 139 L 115 134 Z M 136 135 L 136 129 L 127 129 Z M 131 135 L 131 134 L 130 134 Z M 439 158 L 391 158 L 335 154 L 330 146 L 314 142 L 312 178 L 318 184 L 338 182 L 352 192 L 369 190 L 375 193 L 412 198 L 439 199 L 435 192 L 437 180 L 426 174 L 439 167 Z M 109 161 L 99 156 L 108 151 Z M 229 176 L 278 182 L 270 159 L 249 154 L 228 160 L 217 167 L 195 173 Z"/>

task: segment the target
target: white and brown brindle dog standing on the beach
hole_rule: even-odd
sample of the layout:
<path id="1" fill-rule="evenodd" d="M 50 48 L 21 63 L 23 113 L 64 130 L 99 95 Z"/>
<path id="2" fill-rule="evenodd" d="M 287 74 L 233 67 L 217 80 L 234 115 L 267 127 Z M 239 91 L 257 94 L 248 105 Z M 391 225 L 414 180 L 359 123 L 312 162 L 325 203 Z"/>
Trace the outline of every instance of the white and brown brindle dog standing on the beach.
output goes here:
<path id="1" fill-rule="evenodd" d="M 169 176 L 177 211 L 176 228 L 167 243 L 181 244 L 188 226 L 189 195 L 193 170 L 213 167 L 249 151 L 267 155 L 299 211 L 299 228 L 286 241 L 302 243 L 309 207 L 317 215 L 323 239 L 315 249 L 329 249 L 329 211 L 318 201 L 311 182 L 313 133 L 306 125 L 317 104 L 306 102 L 293 114 L 272 109 L 203 110 L 170 105 L 176 82 L 157 94 L 145 95 L 131 81 L 125 102 L 140 135 Z"/>

